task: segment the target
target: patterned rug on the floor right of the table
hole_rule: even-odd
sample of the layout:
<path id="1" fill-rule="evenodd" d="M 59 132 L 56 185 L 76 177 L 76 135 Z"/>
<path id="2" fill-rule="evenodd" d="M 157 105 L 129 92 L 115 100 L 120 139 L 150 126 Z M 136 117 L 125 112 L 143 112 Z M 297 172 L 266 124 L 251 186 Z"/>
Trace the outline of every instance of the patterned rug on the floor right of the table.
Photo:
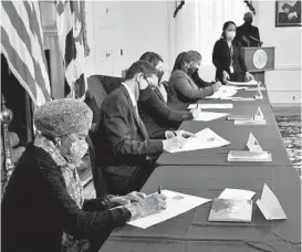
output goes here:
<path id="1" fill-rule="evenodd" d="M 298 169 L 301 176 L 301 116 L 275 115 L 275 120 L 292 166 Z"/>

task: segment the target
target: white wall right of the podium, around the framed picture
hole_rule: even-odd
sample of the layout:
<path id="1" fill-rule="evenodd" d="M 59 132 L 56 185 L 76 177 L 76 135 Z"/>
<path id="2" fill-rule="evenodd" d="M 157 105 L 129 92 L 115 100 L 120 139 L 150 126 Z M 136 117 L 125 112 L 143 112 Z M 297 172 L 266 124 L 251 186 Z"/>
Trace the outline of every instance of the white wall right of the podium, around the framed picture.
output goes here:
<path id="1" fill-rule="evenodd" d="M 275 27 L 275 1 L 253 1 L 262 46 L 275 46 L 275 70 L 265 72 L 270 101 L 301 106 L 301 27 Z"/>

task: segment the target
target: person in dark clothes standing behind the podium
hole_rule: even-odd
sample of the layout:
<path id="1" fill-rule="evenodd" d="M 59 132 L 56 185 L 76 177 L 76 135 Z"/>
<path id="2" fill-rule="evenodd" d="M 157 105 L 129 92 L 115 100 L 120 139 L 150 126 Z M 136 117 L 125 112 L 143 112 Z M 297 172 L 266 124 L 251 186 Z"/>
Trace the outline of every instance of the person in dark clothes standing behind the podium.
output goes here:
<path id="1" fill-rule="evenodd" d="M 259 29 L 252 25 L 252 13 L 247 12 L 243 17 L 244 23 L 237 28 L 237 39 L 241 42 L 242 46 L 260 46 Z"/>

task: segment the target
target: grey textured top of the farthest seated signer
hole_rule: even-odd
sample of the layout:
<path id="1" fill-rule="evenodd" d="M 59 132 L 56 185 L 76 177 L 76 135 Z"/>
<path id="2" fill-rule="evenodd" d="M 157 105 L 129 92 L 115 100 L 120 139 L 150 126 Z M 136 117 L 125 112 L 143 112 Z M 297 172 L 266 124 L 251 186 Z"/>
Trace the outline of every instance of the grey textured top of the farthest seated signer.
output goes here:
<path id="1" fill-rule="evenodd" d="M 190 103 L 212 95 L 212 86 L 199 88 L 181 70 L 171 73 L 168 84 L 168 105 L 175 109 L 186 109 Z"/>

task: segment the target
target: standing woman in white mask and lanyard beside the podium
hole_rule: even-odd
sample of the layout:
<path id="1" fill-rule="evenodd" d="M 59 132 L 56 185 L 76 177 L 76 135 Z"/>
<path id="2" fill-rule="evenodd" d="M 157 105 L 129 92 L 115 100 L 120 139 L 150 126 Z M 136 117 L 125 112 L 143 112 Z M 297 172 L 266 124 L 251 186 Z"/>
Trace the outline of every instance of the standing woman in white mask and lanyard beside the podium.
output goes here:
<path id="1" fill-rule="evenodd" d="M 236 24 L 228 21 L 223 24 L 221 38 L 215 43 L 212 63 L 216 66 L 216 81 L 243 82 L 254 80 L 247 71 L 241 53 L 241 44 L 236 38 Z"/>

